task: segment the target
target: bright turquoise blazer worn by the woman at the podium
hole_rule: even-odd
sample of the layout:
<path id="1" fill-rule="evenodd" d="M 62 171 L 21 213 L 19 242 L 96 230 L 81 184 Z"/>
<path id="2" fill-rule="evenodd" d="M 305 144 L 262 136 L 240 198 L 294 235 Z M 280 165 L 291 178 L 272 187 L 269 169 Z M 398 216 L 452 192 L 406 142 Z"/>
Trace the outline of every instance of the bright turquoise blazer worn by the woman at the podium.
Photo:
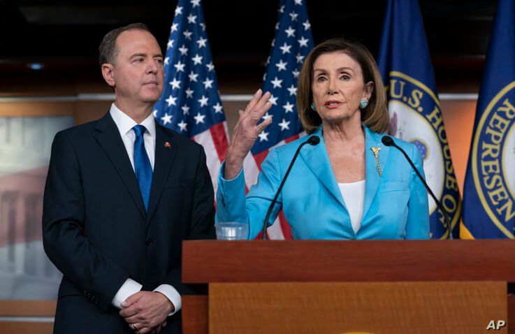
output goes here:
<path id="1" fill-rule="evenodd" d="M 365 132 L 365 201 L 363 220 L 357 233 L 351 226 L 322 136 L 322 127 L 312 135 L 319 145 L 305 145 L 284 183 L 268 225 L 275 222 L 280 210 L 291 226 L 293 239 L 428 239 L 428 195 L 422 182 L 395 147 L 381 143 L 382 134 L 363 125 Z M 220 168 L 217 190 L 217 222 L 249 224 L 248 238 L 261 232 L 280 182 L 293 154 L 307 137 L 270 150 L 257 184 L 245 196 L 243 171 L 234 180 L 223 177 Z M 394 138 L 414 161 L 423 175 L 423 159 L 411 143 Z M 370 147 L 379 147 L 379 175 L 375 155 Z"/>

